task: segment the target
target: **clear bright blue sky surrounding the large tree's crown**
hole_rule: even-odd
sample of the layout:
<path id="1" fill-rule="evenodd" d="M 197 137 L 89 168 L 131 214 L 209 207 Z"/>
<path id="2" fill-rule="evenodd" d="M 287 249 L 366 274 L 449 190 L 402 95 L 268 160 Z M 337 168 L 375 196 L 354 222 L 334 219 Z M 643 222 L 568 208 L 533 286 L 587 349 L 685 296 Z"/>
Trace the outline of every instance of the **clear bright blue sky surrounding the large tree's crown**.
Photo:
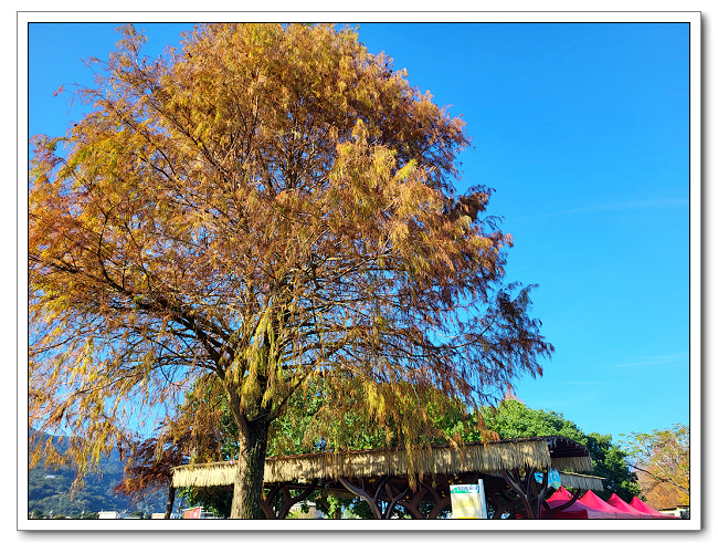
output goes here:
<path id="1" fill-rule="evenodd" d="M 31 24 L 30 135 L 63 134 L 61 84 L 92 84 L 114 24 Z M 148 55 L 189 24 L 136 23 Z M 361 24 L 370 52 L 462 115 L 472 148 L 460 191 L 496 189 L 515 239 L 508 280 L 537 283 L 534 314 L 556 346 L 532 408 L 585 432 L 688 424 L 687 24 Z"/>

